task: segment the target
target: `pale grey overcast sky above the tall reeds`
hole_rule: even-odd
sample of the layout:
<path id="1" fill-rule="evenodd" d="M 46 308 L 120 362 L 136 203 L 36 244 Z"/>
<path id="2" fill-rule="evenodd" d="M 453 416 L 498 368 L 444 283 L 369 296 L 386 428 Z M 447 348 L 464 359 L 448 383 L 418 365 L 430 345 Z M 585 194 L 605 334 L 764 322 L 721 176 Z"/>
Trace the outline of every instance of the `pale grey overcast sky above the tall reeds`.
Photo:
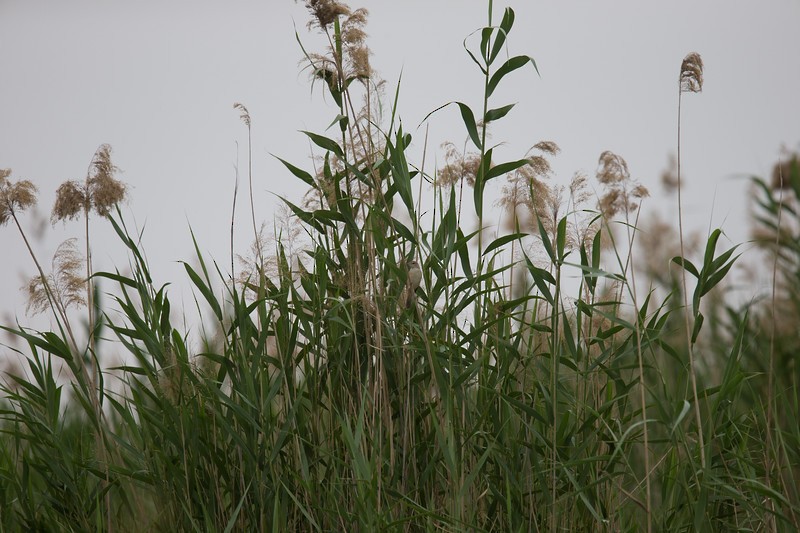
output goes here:
<path id="1" fill-rule="evenodd" d="M 419 164 L 425 115 L 451 100 L 480 108 L 482 79 L 462 41 L 486 24 L 486 4 L 350 5 L 370 11 L 372 63 L 388 99 L 402 71 L 399 114 Z M 782 146 L 800 148 L 799 1 L 496 1 L 495 23 L 507 5 L 516 11 L 509 53 L 533 56 L 541 77 L 517 71 L 493 96 L 492 107 L 518 102 L 493 127 L 492 140 L 506 142 L 496 162 L 553 140 L 562 149 L 553 179 L 567 184 L 578 170 L 593 180 L 598 156 L 612 150 L 653 193 L 645 208 L 675 216 L 659 175 L 676 148 L 681 60 L 696 51 L 705 86 L 683 100 L 686 212 L 703 231 L 721 226 L 732 242 L 747 239 L 742 176 L 767 176 Z M 302 2 L 291 0 L 0 0 L 0 168 L 36 183 L 49 218 L 58 185 L 82 181 L 94 151 L 109 143 L 130 186 L 126 219 L 144 227 L 155 282 L 185 283 L 177 261 L 194 258 L 190 225 L 207 258 L 227 271 L 236 141 L 237 251 L 252 239 L 246 129 L 233 103 L 252 116 L 255 203 L 267 221 L 275 195 L 299 201 L 305 191 L 269 154 L 311 169 L 298 130 L 324 133 L 336 115 L 301 71 L 293 24 L 309 50 L 322 46 L 307 21 Z M 466 137 L 457 109 L 434 115 L 429 135 L 432 171 L 443 162 L 441 142 Z M 35 217 L 22 221 L 36 233 Z M 44 229 L 34 241 L 44 263 L 62 240 L 82 237 L 77 221 Z M 92 232 L 95 269 L 124 270 L 110 225 L 95 220 Z M 0 228 L 0 273 L 0 323 L 31 323 L 19 288 L 34 267 L 11 225 Z M 184 304 L 191 312 L 191 300 Z"/>

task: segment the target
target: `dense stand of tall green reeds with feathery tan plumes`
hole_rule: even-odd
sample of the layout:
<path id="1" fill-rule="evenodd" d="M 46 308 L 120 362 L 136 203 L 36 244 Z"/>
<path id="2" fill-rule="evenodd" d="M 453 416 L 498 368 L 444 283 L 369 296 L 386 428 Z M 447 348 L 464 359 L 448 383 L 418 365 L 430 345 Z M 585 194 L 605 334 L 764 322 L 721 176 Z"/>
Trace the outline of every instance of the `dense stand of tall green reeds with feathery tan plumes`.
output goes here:
<path id="1" fill-rule="evenodd" d="M 483 74 L 481 110 L 450 105 L 476 154 L 470 199 L 464 172 L 415 169 L 411 136 L 375 113 L 366 12 L 307 5 L 329 45 L 305 53 L 310 72 L 338 107 L 337 138 L 304 132 L 315 170 L 283 161 L 309 187 L 304 201 L 286 200 L 309 242 L 295 253 L 276 232 L 269 249 L 254 221 L 244 277 L 195 242 L 186 276 L 199 320 L 219 332 L 198 340 L 176 323 L 169 286 L 153 283 L 141 236 L 119 211 L 107 217 L 130 273 L 91 276 L 111 286 L 100 313 L 115 342 L 100 346 L 126 362 L 98 377 L 125 387 L 87 379 L 79 356 L 90 347 L 66 329 L 4 328 L 27 343 L 28 368 L 2 385 L 2 529 L 796 530 L 797 341 L 790 326 L 768 325 L 779 305 L 786 320 L 800 315 L 797 165 L 791 189 L 754 179 L 758 242 L 781 298 L 708 311 L 736 259 L 717 250 L 715 230 L 699 257 L 673 260 L 695 283 L 658 300 L 636 289 L 646 286 L 632 255 L 647 238 L 645 194 L 624 159 L 601 155 L 609 187 L 589 213 L 578 185 L 562 204 L 564 190 L 543 179 L 540 156 L 554 145 L 493 160 L 487 128 L 513 107 L 494 89 L 535 67 L 505 52 L 511 9 L 493 25 L 490 3 L 488 25 L 465 44 Z M 18 193 L 34 188 L 9 175 L 0 222 L 24 237 L 17 216 L 30 198 Z M 436 215 L 423 225 L 426 177 Z M 487 238 L 486 184 L 501 177 L 511 229 Z M 463 229 L 462 209 L 477 231 Z M 576 288 L 568 271 L 580 273 Z M 74 371 L 68 384 L 60 365 Z M 770 415 L 771 405 L 783 408 Z"/>

